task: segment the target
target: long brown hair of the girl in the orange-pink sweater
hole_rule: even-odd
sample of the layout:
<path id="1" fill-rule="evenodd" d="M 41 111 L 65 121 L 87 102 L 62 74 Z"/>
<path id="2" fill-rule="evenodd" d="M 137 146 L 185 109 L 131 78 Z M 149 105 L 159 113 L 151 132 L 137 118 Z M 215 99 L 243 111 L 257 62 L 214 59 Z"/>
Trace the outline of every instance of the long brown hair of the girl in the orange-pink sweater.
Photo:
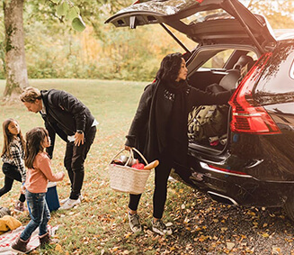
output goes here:
<path id="1" fill-rule="evenodd" d="M 45 149 L 44 141 L 48 136 L 48 131 L 42 127 L 33 128 L 26 133 L 24 164 L 27 168 L 33 168 L 33 161 L 37 154 Z"/>

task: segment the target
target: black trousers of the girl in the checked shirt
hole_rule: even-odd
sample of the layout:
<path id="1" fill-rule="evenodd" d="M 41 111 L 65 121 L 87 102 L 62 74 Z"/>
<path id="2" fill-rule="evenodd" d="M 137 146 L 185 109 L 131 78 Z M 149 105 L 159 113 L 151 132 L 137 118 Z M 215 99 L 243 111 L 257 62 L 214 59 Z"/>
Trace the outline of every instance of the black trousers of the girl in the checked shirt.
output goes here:
<path id="1" fill-rule="evenodd" d="M 0 196 L 4 196 L 5 193 L 9 192 L 13 187 L 13 181 L 17 180 L 22 182 L 22 175 L 20 171 L 13 165 L 4 163 L 2 166 L 2 171 L 4 173 L 4 187 L 0 189 Z M 19 197 L 21 202 L 25 201 L 24 194 Z"/>

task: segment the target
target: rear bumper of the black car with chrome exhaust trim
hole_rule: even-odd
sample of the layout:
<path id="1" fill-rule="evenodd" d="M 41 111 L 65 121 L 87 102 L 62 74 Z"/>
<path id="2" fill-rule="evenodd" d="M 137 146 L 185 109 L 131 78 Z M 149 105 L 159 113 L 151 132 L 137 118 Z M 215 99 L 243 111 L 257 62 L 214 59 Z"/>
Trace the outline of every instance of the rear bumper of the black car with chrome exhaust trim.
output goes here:
<path id="1" fill-rule="evenodd" d="M 264 181 L 250 175 L 238 175 L 209 168 L 200 162 L 192 167 L 189 177 L 192 186 L 211 198 L 230 205 L 275 207 L 284 205 L 294 195 L 294 182 Z"/>

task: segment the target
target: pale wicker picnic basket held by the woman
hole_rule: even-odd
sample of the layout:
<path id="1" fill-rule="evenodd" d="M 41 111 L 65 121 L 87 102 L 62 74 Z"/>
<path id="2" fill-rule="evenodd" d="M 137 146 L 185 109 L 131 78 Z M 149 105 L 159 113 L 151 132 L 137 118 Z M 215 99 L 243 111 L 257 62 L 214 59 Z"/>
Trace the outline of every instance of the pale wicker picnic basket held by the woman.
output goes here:
<path id="1" fill-rule="evenodd" d="M 125 149 L 124 149 L 125 150 Z M 118 165 L 113 163 L 114 159 L 124 151 L 120 150 L 118 154 L 116 154 L 109 164 L 109 177 L 111 188 L 115 191 L 126 192 L 129 194 L 141 194 L 144 192 L 147 178 L 150 175 L 150 169 L 137 169 L 130 168 L 128 166 L 129 162 L 134 159 L 134 151 L 138 153 L 138 155 L 145 161 L 146 165 L 147 159 L 135 148 L 129 150 L 129 159 L 126 161 L 125 165 Z"/>

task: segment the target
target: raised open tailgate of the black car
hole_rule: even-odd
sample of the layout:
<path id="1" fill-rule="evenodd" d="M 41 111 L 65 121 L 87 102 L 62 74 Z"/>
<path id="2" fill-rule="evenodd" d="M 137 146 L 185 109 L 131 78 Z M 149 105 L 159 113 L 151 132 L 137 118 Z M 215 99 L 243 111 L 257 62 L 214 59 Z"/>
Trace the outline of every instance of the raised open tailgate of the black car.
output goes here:
<path id="1" fill-rule="evenodd" d="M 222 42 L 229 42 L 237 38 L 246 37 L 254 46 L 266 52 L 267 47 L 276 44 L 272 35 L 272 28 L 262 15 L 252 14 L 237 0 L 150 0 L 144 3 L 130 5 L 111 16 L 105 23 L 113 23 L 117 27 L 136 28 L 140 25 L 165 23 L 179 32 L 183 32 L 193 41 L 203 43 L 209 39 L 220 38 Z M 219 10 L 227 14 L 223 23 L 218 24 L 220 18 L 201 20 L 198 14 L 209 14 L 209 11 Z M 185 23 L 194 16 L 195 20 Z M 229 21 L 230 20 L 230 21 Z M 234 24 L 234 25 L 231 25 Z M 237 27 L 236 27 L 237 26 Z M 232 31 L 229 31 L 229 29 Z M 205 29 L 204 29 L 205 28 Z M 208 33 L 209 31 L 209 33 Z M 226 36 L 225 36 L 226 35 Z M 229 35 L 229 36 L 228 36 Z M 224 38 L 221 38 L 225 36 Z M 214 41 L 216 43 L 216 41 Z"/>

